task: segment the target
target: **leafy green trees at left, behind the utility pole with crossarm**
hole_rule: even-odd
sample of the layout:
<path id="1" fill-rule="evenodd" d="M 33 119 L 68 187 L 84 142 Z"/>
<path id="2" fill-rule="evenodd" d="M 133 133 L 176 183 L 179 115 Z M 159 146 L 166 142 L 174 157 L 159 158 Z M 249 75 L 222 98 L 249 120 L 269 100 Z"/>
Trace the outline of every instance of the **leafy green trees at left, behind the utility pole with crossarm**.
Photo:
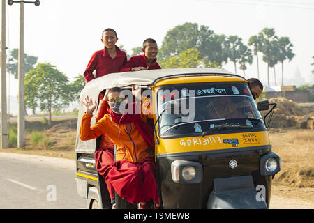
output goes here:
<path id="1" fill-rule="evenodd" d="M 52 111 L 59 111 L 68 107 L 70 102 L 80 98 L 80 91 L 84 88 L 83 75 L 77 75 L 73 82 L 57 70 L 50 63 L 38 63 L 38 57 L 24 54 L 24 101 L 26 109 L 31 109 L 36 114 L 39 108 L 42 112 L 48 112 L 48 124 L 52 121 Z M 8 72 L 17 79 L 18 49 L 10 52 L 7 64 Z"/>

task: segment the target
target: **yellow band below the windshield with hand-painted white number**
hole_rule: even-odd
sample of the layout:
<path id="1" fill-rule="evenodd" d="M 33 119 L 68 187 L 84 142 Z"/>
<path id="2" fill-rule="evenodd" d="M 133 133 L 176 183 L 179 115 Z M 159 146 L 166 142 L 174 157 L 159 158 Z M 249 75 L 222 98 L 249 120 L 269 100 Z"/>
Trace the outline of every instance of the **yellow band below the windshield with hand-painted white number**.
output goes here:
<path id="1" fill-rule="evenodd" d="M 239 146 L 224 143 L 224 139 L 238 139 Z M 248 143 L 248 139 L 254 139 Z M 246 140 L 246 141 L 245 141 Z M 156 154 L 166 153 L 184 153 L 195 151 L 212 151 L 218 149 L 246 148 L 251 146 L 269 145 L 269 136 L 267 131 L 247 132 L 232 134 L 215 134 L 204 137 L 184 137 L 177 139 L 159 139 L 159 145 L 156 145 Z"/>

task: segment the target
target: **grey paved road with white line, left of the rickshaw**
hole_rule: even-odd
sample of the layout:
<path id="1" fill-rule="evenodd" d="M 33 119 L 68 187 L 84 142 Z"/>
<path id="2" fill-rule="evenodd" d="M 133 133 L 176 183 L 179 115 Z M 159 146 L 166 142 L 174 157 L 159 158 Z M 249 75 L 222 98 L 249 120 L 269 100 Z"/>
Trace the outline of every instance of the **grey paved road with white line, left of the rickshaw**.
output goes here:
<path id="1" fill-rule="evenodd" d="M 0 209 L 86 208 L 75 184 L 75 161 L 0 153 Z"/>

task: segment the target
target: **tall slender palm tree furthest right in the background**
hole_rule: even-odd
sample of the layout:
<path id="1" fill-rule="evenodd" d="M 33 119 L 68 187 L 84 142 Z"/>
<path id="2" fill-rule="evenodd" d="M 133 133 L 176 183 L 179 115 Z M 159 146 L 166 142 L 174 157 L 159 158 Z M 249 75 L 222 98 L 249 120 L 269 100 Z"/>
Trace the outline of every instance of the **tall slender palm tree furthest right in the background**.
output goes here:
<path id="1" fill-rule="evenodd" d="M 281 85 L 283 85 L 283 61 L 289 61 L 295 56 L 292 52 L 293 45 L 290 43 L 288 37 L 281 37 L 278 39 L 278 61 L 281 61 Z"/>

